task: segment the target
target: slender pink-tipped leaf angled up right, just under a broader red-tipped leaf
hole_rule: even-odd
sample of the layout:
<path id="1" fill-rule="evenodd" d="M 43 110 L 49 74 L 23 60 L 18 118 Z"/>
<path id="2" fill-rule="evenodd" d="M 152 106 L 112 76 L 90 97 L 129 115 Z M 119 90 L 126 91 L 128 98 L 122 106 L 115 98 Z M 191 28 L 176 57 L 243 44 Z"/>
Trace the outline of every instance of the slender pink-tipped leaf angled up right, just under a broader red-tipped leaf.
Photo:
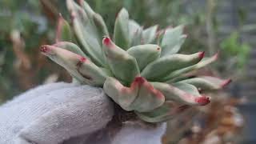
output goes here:
<path id="1" fill-rule="evenodd" d="M 168 74 L 165 78 L 162 78 L 161 81 L 162 82 L 167 82 L 167 83 L 177 82 L 177 79 L 182 74 L 186 74 L 186 73 L 188 73 L 190 71 L 193 71 L 193 70 L 201 69 L 202 67 L 207 66 L 212 62 L 215 62 L 217 59 L 218 59 L 218 53 L 214 54 L 214 56 L 212 56 L 210 58 L 203 58 L 201 62 L 198 62 L 197 64 L 195 64 L 193 66 L 188 66 L 188 67 L 183 68 L 181 70 L 176 70 L 176 71 Z"/>

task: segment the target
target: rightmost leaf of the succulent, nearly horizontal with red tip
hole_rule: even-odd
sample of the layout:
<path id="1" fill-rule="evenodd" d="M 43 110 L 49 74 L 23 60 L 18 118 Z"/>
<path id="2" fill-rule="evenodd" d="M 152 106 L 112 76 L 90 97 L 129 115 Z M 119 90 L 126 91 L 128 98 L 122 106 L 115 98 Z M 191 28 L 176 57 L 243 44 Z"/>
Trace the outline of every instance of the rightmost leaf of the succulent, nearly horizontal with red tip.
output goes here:
<path id="1" fill-rule="evenodd" d="M 224 86 L 228 85 L 231 80 L 223 80 L 220 78 L 214 78 L 209 76 L 198 77 L 198 78 L 189 78 L 179 83 L 188 83 L 190 85 L 196 86 L 198 90 L 219 90 L 222 89 Z"/>

